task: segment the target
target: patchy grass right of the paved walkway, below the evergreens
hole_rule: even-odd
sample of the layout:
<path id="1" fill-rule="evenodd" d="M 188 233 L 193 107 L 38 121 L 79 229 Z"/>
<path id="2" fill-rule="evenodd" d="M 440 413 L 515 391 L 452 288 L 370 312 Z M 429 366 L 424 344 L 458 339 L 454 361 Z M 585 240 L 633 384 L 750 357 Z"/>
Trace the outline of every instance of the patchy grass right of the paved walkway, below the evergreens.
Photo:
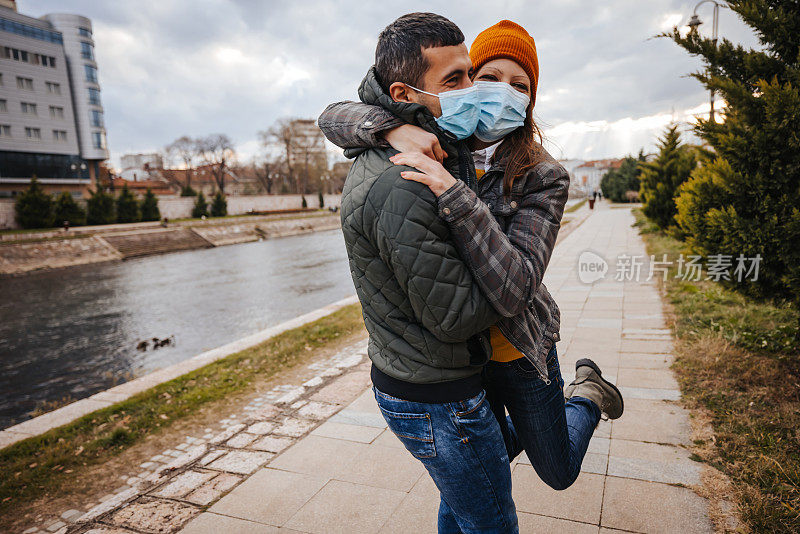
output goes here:
<path id="1" fill-rule="evenodd" d="M 649 254 L 674 260 L 684 243 L 634 210 Z M 800 347 L 798 311 L 748 298 L 719 283 L 675 278 L 666 294 L 677 337 L 673 366 L 685 401 L 711 418 L 700 459 L 732 481 L 755 532 L 800 532 Z"/>

